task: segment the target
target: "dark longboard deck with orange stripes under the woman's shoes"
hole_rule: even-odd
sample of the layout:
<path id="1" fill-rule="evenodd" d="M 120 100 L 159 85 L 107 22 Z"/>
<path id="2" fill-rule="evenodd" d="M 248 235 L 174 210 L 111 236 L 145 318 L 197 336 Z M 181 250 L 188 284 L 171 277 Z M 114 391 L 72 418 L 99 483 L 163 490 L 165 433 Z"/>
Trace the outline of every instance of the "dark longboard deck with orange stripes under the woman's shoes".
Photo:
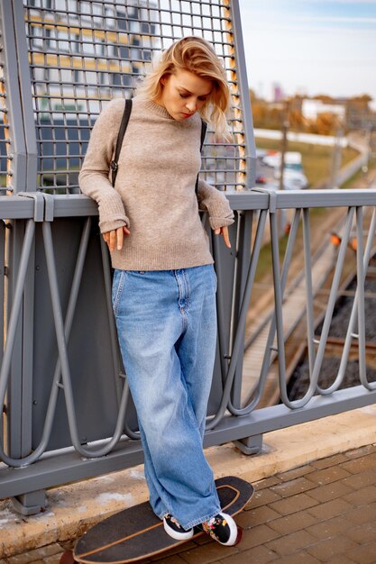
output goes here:
<path id="1" fill-rule="evenodd" d="M 216 479 L 216 489 L 223 511 L 231 515 L 242 511 L 253 494 L 251 484 L 234 476 Z M 192 538 L 200 534 L 204 532 L 195 527 Z M 188 541 L 176 541 L 164 531 L 163 523 L 145 502 L 89 529 L 78 541 L 73 557 L 85 564 L 124 564 L 150 558 L 184 542 Z"/>

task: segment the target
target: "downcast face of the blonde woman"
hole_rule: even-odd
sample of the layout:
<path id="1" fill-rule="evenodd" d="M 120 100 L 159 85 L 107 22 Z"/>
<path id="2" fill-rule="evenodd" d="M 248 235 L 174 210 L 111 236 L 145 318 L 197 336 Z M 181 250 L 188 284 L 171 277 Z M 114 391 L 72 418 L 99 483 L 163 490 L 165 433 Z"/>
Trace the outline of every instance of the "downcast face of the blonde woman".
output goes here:
<path id="1" fill-rule="evenodd" d="M 193 72 L 182 69 L 162 77 L 160 83 L 162 93 L 157 103 L 163 105 L 178 122 L 196 114 L 206 103 L 213 87 L 208 78 L 197 77 Z"/>

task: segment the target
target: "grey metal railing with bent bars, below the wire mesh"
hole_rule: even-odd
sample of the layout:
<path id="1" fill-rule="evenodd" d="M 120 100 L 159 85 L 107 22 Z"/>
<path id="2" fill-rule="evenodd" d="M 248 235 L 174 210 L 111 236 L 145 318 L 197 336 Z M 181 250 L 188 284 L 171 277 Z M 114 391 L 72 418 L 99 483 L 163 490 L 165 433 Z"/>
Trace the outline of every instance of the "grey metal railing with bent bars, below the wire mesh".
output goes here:
<path id="1" fill-rule="evenodd" d="M 51 225 L 71 221 L 72 209 L 67 200 L 75 200 L 75 216 L 86 217 L 80 223 L 80 242 L 77 250 L 77 261 L 69 281 L 69 296 L 61 299 L 61 283 L 59 282 L 59 266 L 55 259 L 56 249 L 52 241 Z M 209 405 L 209 416 L 206 425 L 206 446 L 220 444 L 225 441 L 241 441 L 242 448 L 246 452 L 258 450 L 261 446 L 261 436 L 264 432 L 281 428 L 295 423 L 307 422 L 328 414 L 340 413 L 347 409 L 353 409 L 362 405 L 369 405 L 375 401 L 375 384 L 367 379 L 366 342 L 364 335 L 364 280 L 367 265 L 372 253 L 375 252 L 375 228 L 376 228 L 376 193 L 366 190 L 332 190 L 332 191 L 306 191 L 300 192 L 277 192 L 273 194 L 251 191 L 249 193 L 228 195 L 229 201 L 236 213 L 236 222 L 231 228 L 231 239 L 234 251 L 220 250 L 216 238 L 213 240 L 213 251 L 216 258 L 216 271 L 218 275 L 218 348 L 214 385 Z M 35 198 L 14 196 L 3 198 L 1 208 L 7 217 L 16 216 L 17 220 L 26 220 L 23 249 L 21 251 L 20 266 L 15 284 L 12 313 L 7 327 L 7 338 L 5 354 L 0 374 L 0 399 L 5 397 L 5 389 L 9 382 L 9 370 L 11 368 L 12 355 L 16 350 L 16 326 L 22 311 L 22 302 L 25 287 L 26 273 L 31 258 L 32 246 L 41 237 L 48 274 L 48 291 L 50 293 L 51 308 L 53 310 L 53 322 L 48 327 L 54 327 L 57 336 L 57 346 L 54 354 L 53 378 L 42 375 L 43 387 L 50 386 L 47 406 L 43 408 L 43 416 L 37 417 L 39 429 L 38 441 L 33 441 L 32 449 L 24 450 L 20 455 L 12 455 L 11 446 L 2 449 L 1 457 L 5 464 L 13 468 L 19 468 L 16 473 L 0 469 L 0 495 L 19 496 L 25 491 L 41 490 L 45 487 L 67 481 L 79 479 L 85 476 L 93 476 L 98 473 L 112 471 L 118 468 L 130 466 L 142 461 L 142 448 L 137 441 L 137 429 L 133 414 L 133 405 L 129 402 L 127 387 L 120 382 L 124 381 L 124 373 L 117 371 L 119 366 L 115 340 L 115 330 L 111 330 L 110 349 L 113 350 L 113 378 L 108 379 L 112 370 L 106 368 L 105 386 L 109 396 L 114 388 L 115 409 L 111 421 L 111 431 L 103 429 L 99 434 L 87 437 L 83 440 L 82 421 L 78 422 L 78 406 L 84 411 L 90 410 L 90 400 L 81 396 L 82 390 L 75 390 L 75 380 L 72 378 L 74 360 L 69 359 L 69 344 L 71 340 L 71 329 L 74 318 L 78 314 L 78 295 L 83 288 L 87 288 L 82 273 L 87 266 L 87 250 L 90 246 L 90 238 L 93 236 L 96 245 L 99 246 L 100 238 L 91 232 L 90 217 L 96 215 L 96 205 L 87 200 L 85 196 L 50 196 L 39 194 Z M 298 206 L 298 207 L 296 207 Z M 330 279 L 330 291 L 326 305 L 326 315 L 323 323 L 320 341 L 316 342 L 314 334 L 314 296 L 312 292 L 312 268 L 310 221 L 309 214 L 317 207 L 341 207 L 344 208 L 344 230 L 338 253 L 333 250 L 333 277 Z M 294 219 L 289 232 L 289 241 L 284 255 L 283 267 L 280 268 L 280 238 L 277 233 L 277 214 L 280 209 L 294 210 Z M 363 221 L 363 211 L 367 216 L 367 224 Z M 257 212 L 257 213 L 256 213 Z M 302 222 L 299 220 L 302 216 Z M 261 355 L 260 378 L 256 389 L 247 390 L 248 395 L 252 391 L 252 398 L 246 405 L 241 402 L 241 390 L 243 386 L 243 344 L 244 324 L 252 298 L 253 281 L 258 265 L 258 259 L 262 247 L 264 230 L 267 228 L 269 218 L 271 229 L 272 268 L 274 280 L 275 314 L 271 319 L 269 337 L 265 343 L 265 349 Z M 256 223 L 255 236 L 252 250 L 249 252 L 249 241 L 251 241 L 252 223 Z M 301 227 L 299 227 L 301 225 Z M 285 366 L 285 340 L 286 335 L 283 327 L 284 293 L 289 265 L 294 255 L 294 246 L 297 241 L 298 229 L 301 230 L 303 238 L 303 256 L 305 263 L 306 278 L 306 317 L 307 317 L 307 350 L 309 355 L 309 387 L 306 395 L 298 401 L 291 401 L 287 392 L 286 366 Z M 39 232 L 39 235 L 38 235 Z M 346 338 L 338 374 L 333 375 L 333 383 L 327 389 L 318 385 L 318 377 L 326 350 L 326 341 L 330 332 L 335 303 L 337 299 L 338 285 L 344 270 L 348 243 L 353 233 L 356 233 L 357 248 L 356 261 L 353 268 L 356 271 L 357 290 L 353 300 L 353 313 L 351 314 L 346 328 Z M 329 233 L 327 234 L 329 237 Z M 363 246 L 363 241 L 365 244 Z M 106 251 L 102 254 L 102 272 L 105 288 L 105 307 L 110 310 L 110 268 Z M 46 301 L 46 287 L 43 287 L 43 300 Z M 61 302 L 65 302 L 64 308 Z M 65 314 L 63 314 L 63 309 Z M 103 314 L 103 312 L 101 312 Z M 45 314 L 43 314 L 45 317 Z M 38 341 L 38 311 L 34 312 L 34 339 Z M 111 314 L 107 319 L 111 320 Z M 354 323 L 357 320 L 357 330 L 354 331 Z M 43 327 L 44 319 L 42 320 Z M 76 320 L 77 323 L 77 320 Z M 45 329 L 44 329 L 45 331 Z M 96 339 L 96 326 L 91 331 L 87 330 L 87 339 Z M 356 340 L 359 351 L 359 386 L 345 390 L 338 390 L 344 378 L 345 368 L 348 362 L 348 353 L 351 341 Z M 50 346 L 48 339 L 44 338 L 47 348 Z M 303 336 L 302 336 L 303 341 Z M 264 391 L 271 366 L 271 352 L 277 350 L 279 363 L 279 387 L 281 404 L 259 409 L 260 398 Z M 107 358 L 108 359 L 108 358 Z M 49 364 L 50 357 L 49 357 Z M 33 379 L 38 382 L 40 375 L 33 374 Z M 91 374 L 83 378 L 84 387 L 92 384 Z M 81 383 L 82 384 L 82 383 Z M 32 385 L 32 382 L 29 383 Z M 13 384 L 14 386 L 14 384 Z M 35 392 L 34 392 L 35 393 Z M 67 447 L 51 452 L 50 438 L 54 420 L 59 413 L 57 410 L 58 396 L 63 396 L 67 409 L 67 422 L 69 425 L 69 440 Z M 23 418 L 28 417 L 28 409 L 25 403 L 23 391 Z M 61 397 L 60 397 L 61 399 Z M 35 400 L 34 400 L 35 401 Z M 96 403 L 96 419 L 98 409 L 105 407 Z M 11 400 L 13 405 L 13 398 Z M 30 409 L 30 408 L 29 408 Z M 18 414 L 18 415 L 21 415 Z M 33 423 L 32 415 L 29 415 L 30 423 Z M 12 424 L 12 418 L 9 418 Z M 12 425 L 13 426 L 13 425 Z M 87 429 L 84 430 L 87 433 Z M 105 434 L 105 436 L 104 436 Z M 88 444 L 90 443 L 90 444 Z M 57 462 L 58 461 L 58 462 Z M 33 462 L 33 464 L 32 464 Z M 23 477 L 23 478 L 21 478 Z M 64 478 L 62 478 L 64 477 Z"/>

